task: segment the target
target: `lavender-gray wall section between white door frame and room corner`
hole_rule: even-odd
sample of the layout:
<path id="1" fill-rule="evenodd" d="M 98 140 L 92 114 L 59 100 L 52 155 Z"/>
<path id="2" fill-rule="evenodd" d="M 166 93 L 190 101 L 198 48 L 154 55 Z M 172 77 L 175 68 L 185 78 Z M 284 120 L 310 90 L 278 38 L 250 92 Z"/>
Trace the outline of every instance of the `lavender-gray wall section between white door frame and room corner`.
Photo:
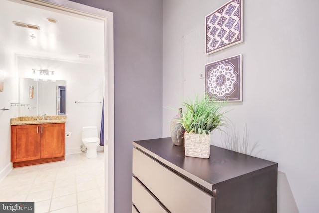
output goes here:
<path id="1" fill-rule="evenodd" d="M 162 0 L 72 0 L 114 13 L 115 213 L 131 212 L 132 141 L 162 136 Z"/>

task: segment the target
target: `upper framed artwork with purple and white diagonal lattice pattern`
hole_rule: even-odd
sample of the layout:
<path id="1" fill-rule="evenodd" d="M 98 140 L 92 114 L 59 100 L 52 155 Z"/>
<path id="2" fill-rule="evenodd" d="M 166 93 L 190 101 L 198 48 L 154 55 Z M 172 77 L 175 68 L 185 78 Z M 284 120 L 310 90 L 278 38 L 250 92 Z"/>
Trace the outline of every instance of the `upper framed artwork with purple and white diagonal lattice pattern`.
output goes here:
<path id="1" fill-rule="evenodd" d="M 243 0 L 231 0 L 206 16 L 206 55 L 244 41 Z"/>

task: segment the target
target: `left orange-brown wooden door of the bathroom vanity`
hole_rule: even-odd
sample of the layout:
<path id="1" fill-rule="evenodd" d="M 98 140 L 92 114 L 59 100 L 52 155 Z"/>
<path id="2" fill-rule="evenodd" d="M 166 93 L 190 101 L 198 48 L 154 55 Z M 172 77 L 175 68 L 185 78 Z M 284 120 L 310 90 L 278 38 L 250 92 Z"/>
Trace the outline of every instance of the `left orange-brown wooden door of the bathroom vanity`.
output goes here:
<path id="1" fill-rule="evenodd" d="M 11 161 L 40 158 L 40 125 L 11 126 Z"/>

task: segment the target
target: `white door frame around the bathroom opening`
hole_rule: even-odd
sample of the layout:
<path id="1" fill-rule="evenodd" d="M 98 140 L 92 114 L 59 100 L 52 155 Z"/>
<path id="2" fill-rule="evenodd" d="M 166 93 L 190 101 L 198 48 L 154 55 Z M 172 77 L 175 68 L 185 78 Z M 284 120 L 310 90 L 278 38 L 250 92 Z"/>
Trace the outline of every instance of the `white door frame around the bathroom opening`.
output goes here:
<path id="1" fill-rule="evenodd" d="M 114 19 L 113 12 L 68 0 L 10 0 L 32 3 L 65 12 L 97 18 L 104 22 L 104 161 L 105 210 L 114 212 Z"/>

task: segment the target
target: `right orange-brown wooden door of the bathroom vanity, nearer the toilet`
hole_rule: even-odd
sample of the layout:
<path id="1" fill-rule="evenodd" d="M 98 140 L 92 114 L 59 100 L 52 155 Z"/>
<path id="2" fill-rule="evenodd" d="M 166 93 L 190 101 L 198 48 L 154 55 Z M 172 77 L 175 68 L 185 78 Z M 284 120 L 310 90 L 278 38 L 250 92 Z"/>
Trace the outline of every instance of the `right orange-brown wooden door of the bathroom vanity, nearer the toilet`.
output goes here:
<path id="1" fill-rule="evenodd" d="M 41 124 L 41 158 L 62 157 L 65 153 L 65 123 Z"/>

